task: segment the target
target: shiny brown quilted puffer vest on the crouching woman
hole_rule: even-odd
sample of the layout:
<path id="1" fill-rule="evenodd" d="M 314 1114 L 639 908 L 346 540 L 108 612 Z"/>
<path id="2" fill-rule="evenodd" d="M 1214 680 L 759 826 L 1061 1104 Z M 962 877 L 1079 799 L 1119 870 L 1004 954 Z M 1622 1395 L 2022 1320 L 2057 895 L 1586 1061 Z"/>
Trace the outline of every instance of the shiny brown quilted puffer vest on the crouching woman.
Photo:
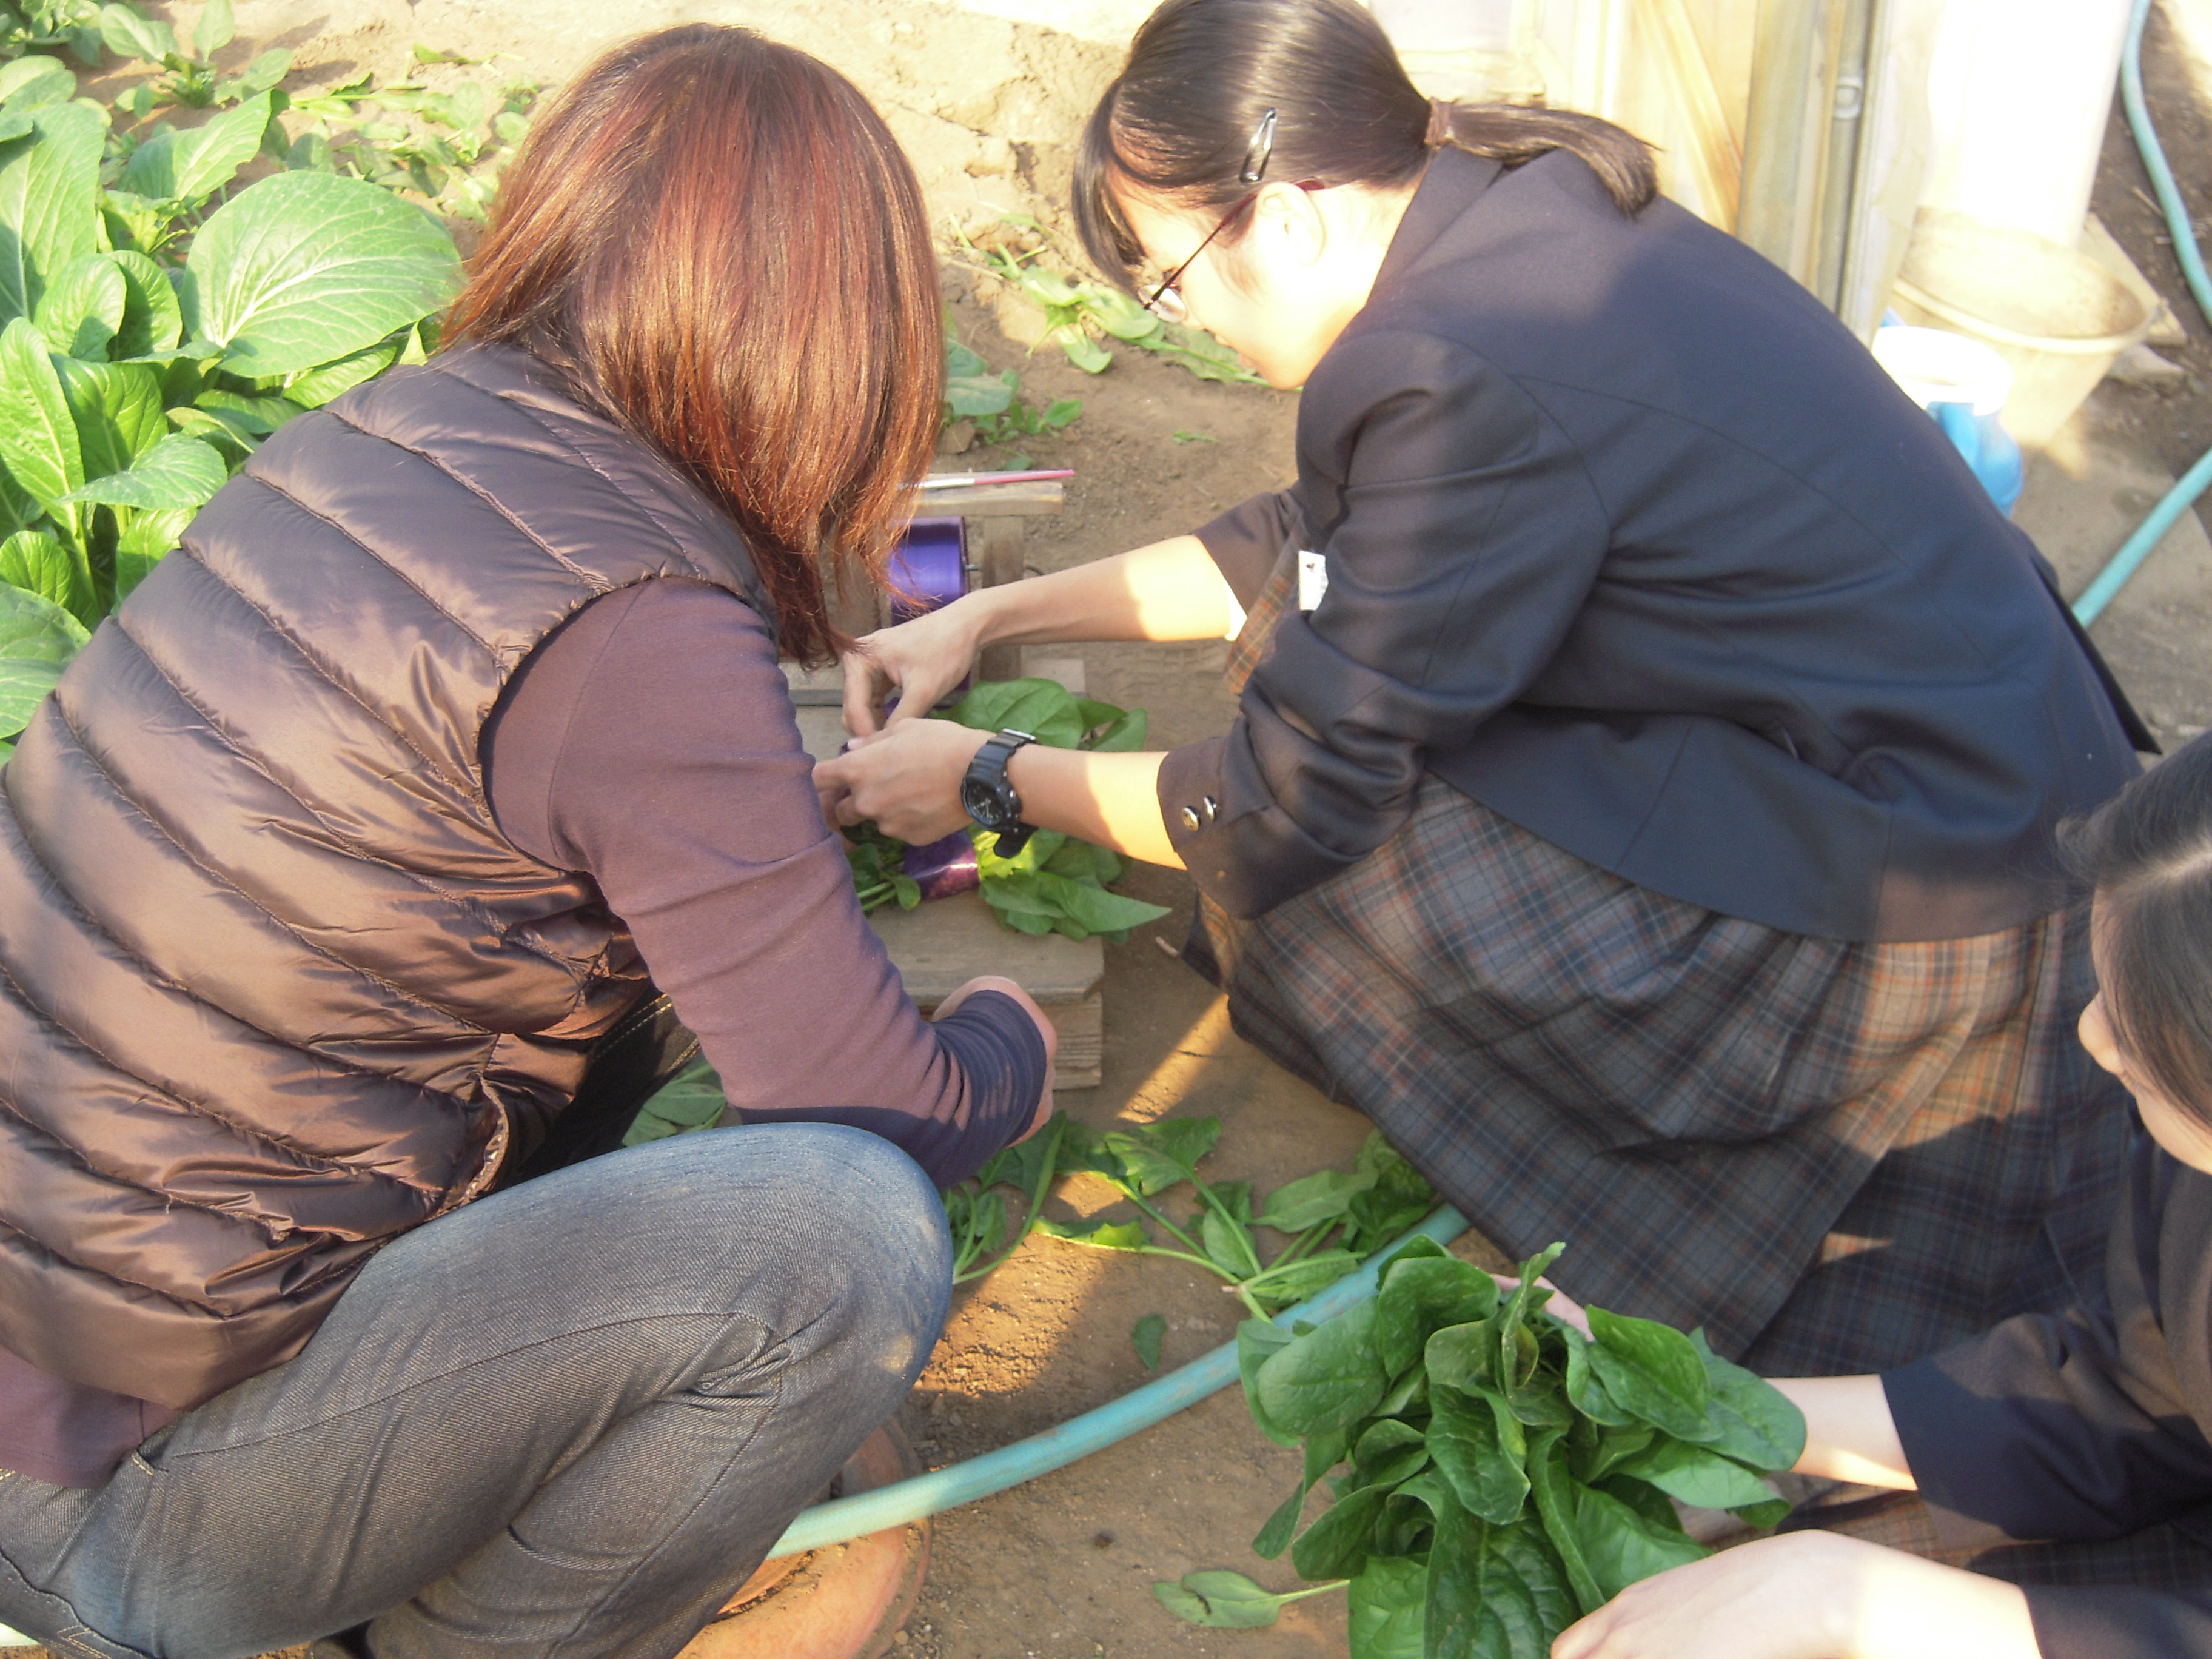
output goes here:
<path id="1" fill-rule="evenodd" d="M 772 615 L 697 487 L 482 347 L 296 418 L 100 626 L 0 776 L 0 1343 L 197 1405 L 542 1135 L 646 971 L 478 737 L 664 575 Z"/>

